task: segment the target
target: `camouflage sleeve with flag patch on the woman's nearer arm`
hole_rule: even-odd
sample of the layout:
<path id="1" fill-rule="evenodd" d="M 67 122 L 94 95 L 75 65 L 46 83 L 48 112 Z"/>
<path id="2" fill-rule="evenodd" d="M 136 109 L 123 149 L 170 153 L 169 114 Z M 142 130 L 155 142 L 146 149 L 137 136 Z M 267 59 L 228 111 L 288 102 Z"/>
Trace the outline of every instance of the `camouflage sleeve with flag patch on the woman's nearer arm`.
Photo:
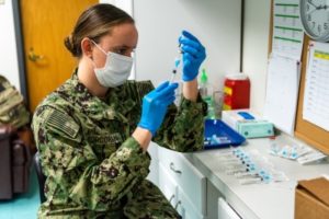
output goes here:
<path id="1" fill-rule="evenodd" d="M 149 172 L 150 158 L 134 138 L 100 161 L 84 143 L 79 124 L 64 112 L 37 111 L 32 127 L 47 176 L 48 201 L 58 201 L 53 200 L 56 193 L 88 209 L 109 209 Z"/>

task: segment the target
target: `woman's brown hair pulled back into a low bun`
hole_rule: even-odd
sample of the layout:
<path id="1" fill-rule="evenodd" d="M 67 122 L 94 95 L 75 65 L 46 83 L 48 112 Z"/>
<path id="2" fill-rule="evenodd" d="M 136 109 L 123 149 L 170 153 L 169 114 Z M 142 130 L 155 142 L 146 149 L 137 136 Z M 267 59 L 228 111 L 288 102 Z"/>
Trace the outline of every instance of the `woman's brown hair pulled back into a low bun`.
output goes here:
<path id="1" fill-rule="evenodd" d="M 65 38 L 64 44 L 73 57 L 80 58 L 82 56 L 81 41 L 84 37 L 99 43 L 102 36 L 111 34 L 112 27 L 123 23 L 135 22 L 129 14 L 112 4 L 94 4 L 82 12 L 73 32 Z"/>

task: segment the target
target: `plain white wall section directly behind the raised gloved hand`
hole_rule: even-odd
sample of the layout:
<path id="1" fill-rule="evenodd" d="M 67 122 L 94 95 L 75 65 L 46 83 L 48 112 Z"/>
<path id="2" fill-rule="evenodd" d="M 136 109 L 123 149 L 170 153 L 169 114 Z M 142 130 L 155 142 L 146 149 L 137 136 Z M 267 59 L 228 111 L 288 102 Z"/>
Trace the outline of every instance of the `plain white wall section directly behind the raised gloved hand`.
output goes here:
<path id="1" fill-rule="evenodd" d="M 151 79 L 155 84 L 169 80 L 178 56 L 178 37 L 188 30 L 206 47 L 202 68 L 206 68 L 213 85 L 222 88 L 226 73 L 239 71 L 240 9 L 240 0 L 134 1 L 139 31 L 136 79 Z"/>

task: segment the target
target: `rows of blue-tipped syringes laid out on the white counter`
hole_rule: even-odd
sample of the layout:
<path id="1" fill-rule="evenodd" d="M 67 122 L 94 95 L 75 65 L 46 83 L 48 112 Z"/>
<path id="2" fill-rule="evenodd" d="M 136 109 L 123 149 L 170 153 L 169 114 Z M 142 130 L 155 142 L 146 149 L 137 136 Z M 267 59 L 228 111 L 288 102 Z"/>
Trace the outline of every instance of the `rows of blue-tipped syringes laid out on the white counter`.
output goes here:
<path id="1" fill-rule="evenodd" d="M 217 157 L 220 170 L 235 176 L 241 185 L 284 182 L 288 178 L 259 151 L 231 148 Z"/>

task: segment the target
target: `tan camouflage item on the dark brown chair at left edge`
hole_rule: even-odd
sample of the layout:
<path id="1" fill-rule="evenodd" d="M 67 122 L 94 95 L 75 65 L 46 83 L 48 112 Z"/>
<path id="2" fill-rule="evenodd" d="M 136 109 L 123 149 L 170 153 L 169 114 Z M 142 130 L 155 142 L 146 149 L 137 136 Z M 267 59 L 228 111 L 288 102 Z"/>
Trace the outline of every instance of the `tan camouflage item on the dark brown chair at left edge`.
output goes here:
<path id="1" fill-rule="evenodd" d="M 0 76 L 0 126 L 11 125 L 20 128 L 30 123 L 30 113 L 22 94 Z"/>

